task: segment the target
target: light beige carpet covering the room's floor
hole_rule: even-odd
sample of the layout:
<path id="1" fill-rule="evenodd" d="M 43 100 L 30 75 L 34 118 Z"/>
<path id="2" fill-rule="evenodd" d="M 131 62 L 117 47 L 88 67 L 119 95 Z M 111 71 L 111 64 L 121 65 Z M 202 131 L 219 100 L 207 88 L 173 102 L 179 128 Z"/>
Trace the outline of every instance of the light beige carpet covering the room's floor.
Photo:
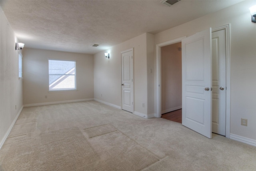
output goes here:
<path id="1" fill-rule="evenodd" d="M 25 107 L 1 171 L 256 171 L 256 147 L 96 101 Z"/>

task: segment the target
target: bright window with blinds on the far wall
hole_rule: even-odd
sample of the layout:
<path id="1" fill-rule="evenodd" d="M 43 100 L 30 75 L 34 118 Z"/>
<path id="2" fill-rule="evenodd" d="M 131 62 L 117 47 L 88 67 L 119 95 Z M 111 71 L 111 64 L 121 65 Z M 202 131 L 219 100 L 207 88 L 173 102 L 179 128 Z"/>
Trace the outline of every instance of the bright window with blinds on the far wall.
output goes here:
<path id="1" fill-rule="evenodd" d="M 49 60 L 49 91 L 76 89 L 76 62 Z"/>

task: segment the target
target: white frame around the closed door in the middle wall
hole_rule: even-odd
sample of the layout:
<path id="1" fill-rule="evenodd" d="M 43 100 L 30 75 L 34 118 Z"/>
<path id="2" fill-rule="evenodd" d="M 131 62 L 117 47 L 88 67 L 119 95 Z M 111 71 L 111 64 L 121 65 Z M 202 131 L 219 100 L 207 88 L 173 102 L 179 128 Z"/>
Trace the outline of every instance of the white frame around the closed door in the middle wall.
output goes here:
<path id="1" fill-rule="evenodd" d="M 134 114 L 134 52 L 133 52 L 133 48 L 130 48 L 128 50 L 124 50 L 122 52 L 120 52 L 120 57 L 121 57 L 121 110 L 123 109 L 123 96 L 122 96 L 122 54 L 132 51 L 132 113 Z"/>

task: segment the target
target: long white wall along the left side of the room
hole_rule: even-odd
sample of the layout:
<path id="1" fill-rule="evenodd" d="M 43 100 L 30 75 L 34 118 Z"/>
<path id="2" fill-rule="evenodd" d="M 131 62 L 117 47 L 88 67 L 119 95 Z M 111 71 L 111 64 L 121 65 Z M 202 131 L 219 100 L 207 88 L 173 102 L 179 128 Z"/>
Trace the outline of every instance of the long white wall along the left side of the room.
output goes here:
<path id="1" fill-rule="evenodd" d="M 18 42 L 0 8 L 0 147 L 22 110 L 22 80 L 18 75 Z M 16 106 L 16 107 L 15 107 Z"/>

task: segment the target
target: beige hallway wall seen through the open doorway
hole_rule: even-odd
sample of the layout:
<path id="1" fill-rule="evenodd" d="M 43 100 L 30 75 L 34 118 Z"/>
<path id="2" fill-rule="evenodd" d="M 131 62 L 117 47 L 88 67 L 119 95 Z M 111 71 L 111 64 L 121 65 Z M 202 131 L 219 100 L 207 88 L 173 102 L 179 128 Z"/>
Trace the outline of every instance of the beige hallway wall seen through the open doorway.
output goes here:
<path id="1" fill-rule="evenodd" d="M 181 42 L 161 48 L 162 113 L 182 106 Z"/>

